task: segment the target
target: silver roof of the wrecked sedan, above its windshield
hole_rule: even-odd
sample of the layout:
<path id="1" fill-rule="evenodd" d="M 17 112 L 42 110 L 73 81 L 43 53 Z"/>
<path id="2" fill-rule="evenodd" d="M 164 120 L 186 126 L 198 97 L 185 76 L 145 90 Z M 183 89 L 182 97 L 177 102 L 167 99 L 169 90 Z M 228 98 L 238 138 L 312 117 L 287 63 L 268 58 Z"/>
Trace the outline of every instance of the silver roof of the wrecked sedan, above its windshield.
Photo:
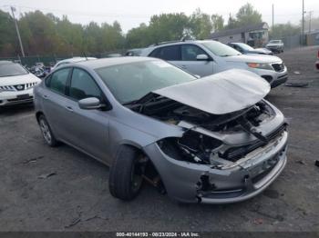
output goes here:
<path id="1" fill-rule="evenodd" d="M 88 68 L 91 68 L 91 69 L 97 69 L 97 68 L 108 67 L 108 66 L 117 65 L 117 64 L 129 64 L 129 63 L 137 63 L 137 62 L 152 61 L 152 60 L 154 59 L 149 57 L 125 56 L 125 57 L 114 57 L 114 58 L 103 58 L 103 59 L 96 59 L 96 60 L 81 61 L 76 64 L 87 66 Z"/>

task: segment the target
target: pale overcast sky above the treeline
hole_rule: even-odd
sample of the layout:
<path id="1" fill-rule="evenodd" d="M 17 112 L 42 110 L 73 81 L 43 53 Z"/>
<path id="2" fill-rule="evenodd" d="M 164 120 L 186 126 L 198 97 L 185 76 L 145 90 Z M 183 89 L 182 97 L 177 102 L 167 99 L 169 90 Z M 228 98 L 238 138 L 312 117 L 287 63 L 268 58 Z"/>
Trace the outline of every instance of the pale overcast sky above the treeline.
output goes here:
<path id="1" fill-rule="evenodd" d="M 198 7 L 210 15 L 223 15 L 227 23 L 228 15 L 235 15 L 247 2 L 262 13 L 262 19 L 269 25 L 272 24 L 272 4 L 275 23 L 297 24 L 302 17 L 302 0 L 0 0 L 0 9 L 8 11 L 8 5 L 14 5 L 17 14 L 38 9 L 57 16 L 67 15 L 71 22 L 81 24 L 118 20 L 126 33 L 140 23 L 148 24 L 150 15 L 180 12 L 190 15 Z M 305 11 L 319 16 L 319 0 L 304 0 L 304 5 Z"/>

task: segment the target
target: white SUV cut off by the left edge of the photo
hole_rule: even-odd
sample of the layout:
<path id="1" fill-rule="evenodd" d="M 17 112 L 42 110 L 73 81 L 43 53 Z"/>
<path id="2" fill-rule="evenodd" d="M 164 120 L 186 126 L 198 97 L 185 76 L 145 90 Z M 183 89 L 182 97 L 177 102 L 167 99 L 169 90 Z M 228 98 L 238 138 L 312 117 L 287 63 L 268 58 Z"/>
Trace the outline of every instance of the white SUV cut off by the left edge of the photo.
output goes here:
<path id="1" fill-rule="evenodd" d="M 33 87 L 41 80 L 20 64 L 0 61 L 0 106 L 33 102 Z"/>

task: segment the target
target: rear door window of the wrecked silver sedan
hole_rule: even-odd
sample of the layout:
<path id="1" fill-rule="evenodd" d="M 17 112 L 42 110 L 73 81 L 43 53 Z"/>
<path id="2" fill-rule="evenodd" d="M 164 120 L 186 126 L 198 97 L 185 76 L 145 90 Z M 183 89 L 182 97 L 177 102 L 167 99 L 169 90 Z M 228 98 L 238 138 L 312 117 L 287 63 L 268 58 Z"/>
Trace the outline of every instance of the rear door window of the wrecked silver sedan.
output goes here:
<path id="1" fill-rule="evenodd" d="M 58 70 L 56 73 L 52 74 L 46 86 L 59 94 L 66 94 L 67 77 L 70 70 L 70 68 Z"/>

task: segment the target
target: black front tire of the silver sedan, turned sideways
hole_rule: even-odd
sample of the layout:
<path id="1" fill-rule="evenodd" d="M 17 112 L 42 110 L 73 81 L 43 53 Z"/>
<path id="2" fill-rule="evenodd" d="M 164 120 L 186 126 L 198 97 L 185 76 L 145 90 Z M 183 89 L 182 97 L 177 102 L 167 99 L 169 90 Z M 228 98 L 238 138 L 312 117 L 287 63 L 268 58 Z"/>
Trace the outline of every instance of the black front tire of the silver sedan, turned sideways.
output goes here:
<path id="1" fill-rule="evenodd" d="M 122 145 L 115 158 L 108 179 L 109 192 L 112 196 L 124 200 L 133 200 L 143 184 L 146 158 L 138 149 Z"/>

